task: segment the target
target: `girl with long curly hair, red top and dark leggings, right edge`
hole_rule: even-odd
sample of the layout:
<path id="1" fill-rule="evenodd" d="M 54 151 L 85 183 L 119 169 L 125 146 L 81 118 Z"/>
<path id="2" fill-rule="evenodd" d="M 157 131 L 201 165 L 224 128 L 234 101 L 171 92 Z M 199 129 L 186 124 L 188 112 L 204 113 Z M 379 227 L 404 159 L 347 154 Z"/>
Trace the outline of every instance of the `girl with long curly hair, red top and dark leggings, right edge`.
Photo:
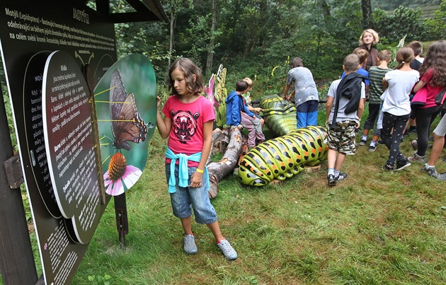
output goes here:
<path id="1" fill-rule="evenodd" d="M 441 105 L 435 104 L 435 95 L 446 87 L 446 41 L 439 40 L 430 45 L 420 69 L 421 80 L 413 87 L 416 93 L 426 88 L 426 101 L 416 111 L 417 151 L 409 156 L 409 161 L 425 162 L 429 144 L 430 124 L 441 111 Z M 444 98 L 443 98 L 444 100 Z M 413 143 L 413 145 L 415 145 Z"/>

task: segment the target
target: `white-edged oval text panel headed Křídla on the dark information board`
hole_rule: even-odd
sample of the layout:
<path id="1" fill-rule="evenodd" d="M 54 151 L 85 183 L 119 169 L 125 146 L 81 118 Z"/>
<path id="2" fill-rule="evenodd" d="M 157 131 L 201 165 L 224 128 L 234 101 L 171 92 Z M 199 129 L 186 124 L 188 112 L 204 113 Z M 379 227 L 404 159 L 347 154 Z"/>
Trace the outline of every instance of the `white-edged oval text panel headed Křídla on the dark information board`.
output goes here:
<path id="1" fill-rule="evenodd" d="M 57 205 L 88 243 L 99 222 L 100 189 L 91 96 L 81 69 L 67 52 L 52 52 L 45 64 L 42 116 L 47 163 Z"/>

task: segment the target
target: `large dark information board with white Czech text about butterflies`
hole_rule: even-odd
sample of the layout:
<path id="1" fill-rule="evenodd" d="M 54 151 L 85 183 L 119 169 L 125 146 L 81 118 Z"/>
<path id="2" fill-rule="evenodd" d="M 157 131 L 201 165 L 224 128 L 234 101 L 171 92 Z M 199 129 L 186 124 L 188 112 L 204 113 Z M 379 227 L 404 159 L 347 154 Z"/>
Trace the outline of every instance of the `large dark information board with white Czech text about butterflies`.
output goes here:
<path id="1" fill-rule="evenodd" d="M 115 30 L 82 3 L 0 1 L 1 55 L 46 284 L 70 283 L 107 204 L 91 91 L 116 62 Z"/>

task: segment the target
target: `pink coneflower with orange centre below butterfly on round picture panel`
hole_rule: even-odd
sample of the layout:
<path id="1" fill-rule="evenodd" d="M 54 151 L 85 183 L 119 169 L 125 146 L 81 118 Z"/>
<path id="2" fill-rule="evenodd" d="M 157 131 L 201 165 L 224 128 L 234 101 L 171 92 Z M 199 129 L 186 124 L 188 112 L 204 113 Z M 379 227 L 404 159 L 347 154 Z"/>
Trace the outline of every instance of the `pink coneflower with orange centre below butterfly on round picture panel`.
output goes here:
<path id="1" fill-rule="evenodd" d="M 141 177 L 142 171 L 133 165 L 127 165 L 122 153 L 115 153 L 104 173 L 105 192 L 118 196 L 132 187 Z"/>

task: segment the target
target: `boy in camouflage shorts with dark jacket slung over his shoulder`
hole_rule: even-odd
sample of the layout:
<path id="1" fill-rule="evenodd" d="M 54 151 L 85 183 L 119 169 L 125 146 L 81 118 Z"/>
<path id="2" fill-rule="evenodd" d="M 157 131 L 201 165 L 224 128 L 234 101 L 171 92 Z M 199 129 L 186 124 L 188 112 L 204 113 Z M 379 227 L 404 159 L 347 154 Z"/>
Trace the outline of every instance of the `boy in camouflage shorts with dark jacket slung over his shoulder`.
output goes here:
<path id="1" fill-rule="evenodd" d="M 358 55 L 348 54 L 343 62 L 345 77 L 333 81 L 328 90 L 328 186 L 347 178 L 347 173 L 341 173 L 341 167 L 347 155 L 356 153 L 355 129 L 360 126 L 365 102 L 365 76 L 356 72 L 359 68 Z"/>

